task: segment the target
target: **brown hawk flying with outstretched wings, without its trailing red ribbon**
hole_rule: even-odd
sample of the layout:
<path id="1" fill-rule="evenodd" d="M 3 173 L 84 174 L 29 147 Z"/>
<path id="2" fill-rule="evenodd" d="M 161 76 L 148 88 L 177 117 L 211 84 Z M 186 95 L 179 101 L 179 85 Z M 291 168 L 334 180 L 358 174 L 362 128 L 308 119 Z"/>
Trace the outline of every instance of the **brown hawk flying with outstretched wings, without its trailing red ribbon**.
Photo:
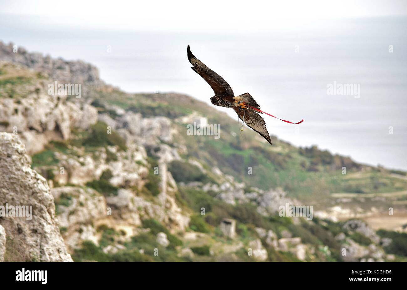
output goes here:
<path id="1" fill-rule="evenodd" d="M 266 122 L 252 108 L 260 110 L 260 106 L 249 93 L 235 96 L 230 85 L 216 72 L 212 71 L 203 62 L 196 58 L 188 45 L 187 48 L 188 60 L 193 65 L 193 69 L 199 76 L 204 78 L 213 89 L 215 95 L 210 98 L 210 102 L 215 106 L 232 108 L 235 110 L 239 119 L 247 126 L 252 128 L 258 134 L 263 136 L 271 144 L 269 132 L 267 132 Z M 261 112 L 260 112 L 261 113 Z"/>

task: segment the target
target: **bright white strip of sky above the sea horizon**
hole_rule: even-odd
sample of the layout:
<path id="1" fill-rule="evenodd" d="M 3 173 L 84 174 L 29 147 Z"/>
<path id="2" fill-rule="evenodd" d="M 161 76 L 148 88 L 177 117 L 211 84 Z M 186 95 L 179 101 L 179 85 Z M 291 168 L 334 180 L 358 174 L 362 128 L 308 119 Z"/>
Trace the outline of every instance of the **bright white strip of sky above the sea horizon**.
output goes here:
<path id="1" fill-rule="evenodd" d="M 320 19 L 407 15 L 405 0 L 0 0 L 0 7 L 0 14 L 43 16 L 39 25 L 177 32 L 281 30 Z"/>

